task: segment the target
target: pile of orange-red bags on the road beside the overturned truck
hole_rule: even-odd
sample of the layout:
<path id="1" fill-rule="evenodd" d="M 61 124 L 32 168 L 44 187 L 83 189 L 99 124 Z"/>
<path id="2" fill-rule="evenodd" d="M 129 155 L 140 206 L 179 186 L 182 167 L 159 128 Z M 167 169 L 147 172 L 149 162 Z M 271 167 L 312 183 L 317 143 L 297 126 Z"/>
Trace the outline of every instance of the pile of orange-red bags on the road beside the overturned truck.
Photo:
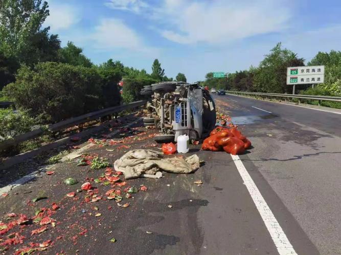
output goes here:
<path id="1" fill-rule="evenodd" d="M 236 127 L 216 127 L 202 143 L 203 150 L 226 151 L 232 155 L 242 154 L 251 142 Z"/>

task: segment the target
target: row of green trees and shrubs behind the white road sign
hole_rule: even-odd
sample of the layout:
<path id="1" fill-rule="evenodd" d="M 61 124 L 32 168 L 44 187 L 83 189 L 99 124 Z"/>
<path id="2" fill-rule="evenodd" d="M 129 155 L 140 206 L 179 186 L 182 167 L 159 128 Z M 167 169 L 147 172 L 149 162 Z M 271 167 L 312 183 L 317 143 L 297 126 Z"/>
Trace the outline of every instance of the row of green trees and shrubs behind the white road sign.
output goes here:
<path id="1" fill-rule="evenodd" d="M 292 93 L 292 86 L 286 85 L 286 70 L 289 66 L 304 66 L 305 60 L 278 43 L 265 55 L 259 66 L 248 70 L 229 73 L 226 78 L 213 78 L 213 72 L 206 74 L 201 85 L 209 88 L 234 91 Z M 325 65 L 325 83 L 312 88 L 311 85 L 297 85 L 297 91 L 305 95 L 341 96 L 341 52 L 319 52 L 307 65 Z M 317 105 L 315 100 L 301 100 Z M 322 106 L 341 108 L 340 103 L 322 101 Z"/>

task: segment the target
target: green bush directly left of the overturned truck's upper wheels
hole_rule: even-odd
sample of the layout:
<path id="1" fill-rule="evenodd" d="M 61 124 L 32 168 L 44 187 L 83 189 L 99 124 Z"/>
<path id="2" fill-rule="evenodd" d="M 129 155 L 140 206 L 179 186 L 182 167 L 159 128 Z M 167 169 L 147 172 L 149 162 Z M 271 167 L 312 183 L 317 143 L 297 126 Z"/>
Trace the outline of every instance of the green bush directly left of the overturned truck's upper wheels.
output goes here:
<path id="1" fill-rule="evenodd" d="M 123 84 L 123 101 L 124 103 L 128 104 L 133 101 L 141 100 L 144 98 L 140 94 L 141 89 L 144 86 L 150 86 L 157 81 L 150 78 L 141 78 L 141 79 L 124 79 Z"/>

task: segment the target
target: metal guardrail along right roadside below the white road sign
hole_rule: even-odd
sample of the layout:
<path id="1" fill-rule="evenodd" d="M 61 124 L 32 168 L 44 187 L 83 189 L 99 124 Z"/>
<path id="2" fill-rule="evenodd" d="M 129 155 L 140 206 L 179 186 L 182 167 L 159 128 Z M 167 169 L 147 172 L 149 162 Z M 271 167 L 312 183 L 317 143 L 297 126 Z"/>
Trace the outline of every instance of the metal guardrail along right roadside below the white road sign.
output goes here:
<path id="1" fill-rule="evenodd" d="M 244 92 L 244 91 L 226 91 L 230 94 L 245 94 L 245 95 L 259 95 L 259 96 L 274 96 L 274 97 L 289 97 L 289 98 L 298 98 L 300 99 L 311 99 L 318 100 L 319 105 L 321 101 L 334 101 L 341 102 L 341 96 L 321 96 L 321 95 L 292 95 L 292 94 L 277 94 L 277 93 L 260 93 L 260 92 Z"/>

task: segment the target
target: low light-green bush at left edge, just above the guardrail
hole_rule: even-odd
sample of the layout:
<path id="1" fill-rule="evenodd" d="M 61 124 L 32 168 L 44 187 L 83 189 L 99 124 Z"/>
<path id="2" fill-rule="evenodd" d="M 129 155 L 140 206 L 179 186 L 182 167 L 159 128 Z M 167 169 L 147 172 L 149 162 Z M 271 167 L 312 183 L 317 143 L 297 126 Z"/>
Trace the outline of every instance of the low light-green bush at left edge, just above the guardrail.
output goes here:
<path id="1" fill-rule="evenodd" d="M 0 109 L 0 141 L 31 131 L 35 120 L 24 111 Z"/>

